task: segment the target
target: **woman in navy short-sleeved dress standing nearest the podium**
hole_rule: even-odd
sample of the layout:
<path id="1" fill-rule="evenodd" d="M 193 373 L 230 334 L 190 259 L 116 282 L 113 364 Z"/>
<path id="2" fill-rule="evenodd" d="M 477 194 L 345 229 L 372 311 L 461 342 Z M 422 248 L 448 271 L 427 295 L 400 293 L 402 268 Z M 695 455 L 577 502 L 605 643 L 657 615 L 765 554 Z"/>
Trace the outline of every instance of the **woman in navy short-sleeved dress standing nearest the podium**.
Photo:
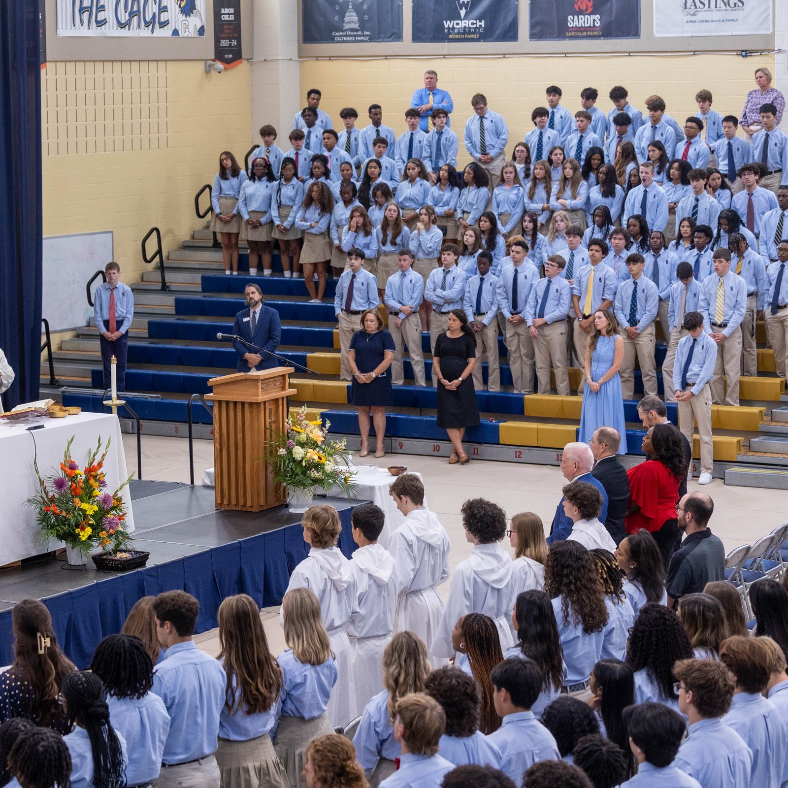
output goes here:
<path id="1" fill-rule="evenodd" d="M 474 343 L 475 344 L 475 343 Z M 348 366 L 353 375 L 351 405 L 359 407 L 359 432 L 361 452 L 359 457 L 370 453 L 370 413 L 377 437 L 376 457 L 385 455 L 383 437 L 386 432 L 385 407 L 391 406 L 392 378 L 388 367 L 394 360 L 394 337 L 383 328 L 383 320 L 377 309 L 368 309 L 361 316 L 361 330 L 350 340 Z"/>

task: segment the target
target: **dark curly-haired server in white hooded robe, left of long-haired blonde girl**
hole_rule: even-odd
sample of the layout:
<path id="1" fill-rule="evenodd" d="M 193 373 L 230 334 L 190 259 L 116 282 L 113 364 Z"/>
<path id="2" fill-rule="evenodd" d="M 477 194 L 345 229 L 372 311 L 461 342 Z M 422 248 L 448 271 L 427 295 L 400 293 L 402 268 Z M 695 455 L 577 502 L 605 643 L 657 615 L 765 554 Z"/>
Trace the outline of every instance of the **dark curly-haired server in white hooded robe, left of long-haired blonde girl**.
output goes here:
<path id="1" fill-rule="evenodd" d="M 454 571 L 448 600 L 429 652 L 435 656 L 454 656 L 452 630 L 460 616 L 484 613 L 495 622 L 501 651 L 514 644 L 509 624 L 515 605 L 511 556 L 499 542 L 506 535 L 506 513 L 484 498 L 466 500 L 460 509 L 465 538 L 472 546 L 470 558 Z"/>

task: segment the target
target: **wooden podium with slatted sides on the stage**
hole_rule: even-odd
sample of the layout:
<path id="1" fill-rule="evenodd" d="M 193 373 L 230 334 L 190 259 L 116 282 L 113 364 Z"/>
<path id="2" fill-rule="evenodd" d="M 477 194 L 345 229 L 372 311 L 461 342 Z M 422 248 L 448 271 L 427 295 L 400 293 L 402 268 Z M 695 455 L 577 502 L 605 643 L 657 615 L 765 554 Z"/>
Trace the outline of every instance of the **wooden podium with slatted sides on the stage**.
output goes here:
<path id="1" fill-rule="evenodd" d="M 239 372 L 208 381 L 214 404 L 214 500 L 217 509 L 262 511 L 284 504 L 284 487 L 267 461 L 270 441 L 284 431 L 292 366 Z"/>

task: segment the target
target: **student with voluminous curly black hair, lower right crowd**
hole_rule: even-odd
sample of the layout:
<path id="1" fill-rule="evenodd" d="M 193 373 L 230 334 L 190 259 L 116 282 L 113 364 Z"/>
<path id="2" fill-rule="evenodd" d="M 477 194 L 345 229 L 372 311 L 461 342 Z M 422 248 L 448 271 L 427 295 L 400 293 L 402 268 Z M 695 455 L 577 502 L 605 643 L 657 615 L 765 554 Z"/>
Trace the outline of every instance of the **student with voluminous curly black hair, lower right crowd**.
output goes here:
<path id="1" fill-rule="evenodd" d="M 635 703 L 656 701 L 678 711 L 673 665 L 692 657 L 689 638 L 673 611 L 654 602 L 641 608 L 626 645 L 626 663 L 635 678 Z"/>

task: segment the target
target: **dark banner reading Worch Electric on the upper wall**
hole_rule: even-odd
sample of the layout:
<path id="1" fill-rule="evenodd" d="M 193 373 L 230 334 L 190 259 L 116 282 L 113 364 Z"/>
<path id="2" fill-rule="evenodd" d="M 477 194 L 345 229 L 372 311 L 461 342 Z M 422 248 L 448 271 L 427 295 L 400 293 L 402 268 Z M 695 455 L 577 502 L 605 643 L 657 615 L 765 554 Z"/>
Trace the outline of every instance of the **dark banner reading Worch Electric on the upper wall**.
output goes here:
<path id="1" fill-rule="evenodd" d="M 414 43 L 516 41 L 518 0 L 412 0 Z"/>

